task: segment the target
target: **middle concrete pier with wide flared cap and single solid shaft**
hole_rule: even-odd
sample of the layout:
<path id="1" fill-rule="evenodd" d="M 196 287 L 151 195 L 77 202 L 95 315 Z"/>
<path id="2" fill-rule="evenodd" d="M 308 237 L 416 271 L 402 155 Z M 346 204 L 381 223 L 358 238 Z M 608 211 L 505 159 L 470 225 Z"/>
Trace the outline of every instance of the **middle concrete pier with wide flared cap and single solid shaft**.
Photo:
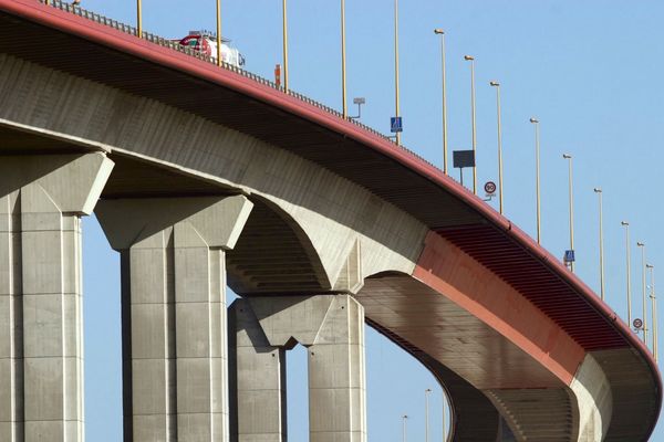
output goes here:
<path id="1" fill-rule="evenodd" d="M 226 250 L 252 203 L 101 201 L 121 252 L 125 441 L 228 441 Z"/>

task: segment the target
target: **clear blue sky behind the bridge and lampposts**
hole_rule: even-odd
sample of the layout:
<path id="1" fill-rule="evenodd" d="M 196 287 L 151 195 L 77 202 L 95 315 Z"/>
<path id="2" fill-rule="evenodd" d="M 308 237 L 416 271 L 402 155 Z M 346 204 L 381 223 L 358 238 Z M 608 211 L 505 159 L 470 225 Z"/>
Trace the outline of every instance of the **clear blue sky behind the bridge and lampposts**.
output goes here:
<path id="1" fill-rule="evenodd" d="M 501 83 L 506 215 L 535 235 L 533 127 L 541 122 L 542 242 L 562 256 L 569 244 L 568 169 L 573 156 L 577 273 L 599 292 L 598 200 L 604 193 L 608 303 L 626 316 L 625 244 L 632 233 L 635 316 L 642 316 L 641 255 L 664 269 L 661 168 L 664 165 L 664 2 L 656 0 L 402 0 L 403 144 L 442 164 L 440 46 L 446 30 L 449 148 L 470 148 L 470 78 L 476 57 L 479 183 L 497 180 L 496 104 Z M 133 23 L 135 2 L 83 0 L 83 7 Z M 215 1 L 145 0 L 144 28 L 169 38 L 215 28 Z M 222 0 L 224 35 L 246 69 L 272 78 L 281 62 L 281 2 Z M 394 113 L 393 1 L 346 0 L 349 103 L 366 97 L 362 122 L 388 131 Z M 341 108 L 339 1 L 290 0 L 291 88 Z M 352 104 L 351 110 L 353 109 Z M 452 160 L 452 158 L 450 158 Z M 458 177 L 457 171 L 454 172 Z M 467 175 L 468 177 L 470 173 Z M 468 182 L 468 181 L 467 181 Z M 494 203 L 495 207 L 497 207 Z M 85 234 L 86 431 L 121 440 L 120 269 L 94 218 Z M 660 267 L 662 266 L 662 267 Z M 660 270 L 657 270 L 662 274 Z M 662 280 L 664 281 L 664 278 Z M 290 440 L 307 441 L 304 354 L 289 358 Z M 371 441 L 424 439 L 424 390 L 432 394 L 432 440 L 440 440 L 440 389 L 394 345 L 367 334 Z M 662 427 L 662 425 L 660 425 Z M 664 440 L 658 429 L 653 440 Z"/>

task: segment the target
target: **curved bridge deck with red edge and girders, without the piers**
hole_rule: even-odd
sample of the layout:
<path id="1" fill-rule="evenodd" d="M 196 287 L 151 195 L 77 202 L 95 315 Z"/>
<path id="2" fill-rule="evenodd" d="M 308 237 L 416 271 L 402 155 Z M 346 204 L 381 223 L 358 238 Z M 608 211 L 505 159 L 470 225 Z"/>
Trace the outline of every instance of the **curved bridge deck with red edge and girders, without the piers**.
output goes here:
<path id="1" fill-rule="evenodd" d="M 324 106 L 98 21 L 0 0 L 2 170 L 101 152 L 102 209 L 245 196 L 251 214 L 224 245 L 234 291 L 351 294 L 446 389 L 455 441 L 649 439 L 652 355 L 508 219 Z"/>

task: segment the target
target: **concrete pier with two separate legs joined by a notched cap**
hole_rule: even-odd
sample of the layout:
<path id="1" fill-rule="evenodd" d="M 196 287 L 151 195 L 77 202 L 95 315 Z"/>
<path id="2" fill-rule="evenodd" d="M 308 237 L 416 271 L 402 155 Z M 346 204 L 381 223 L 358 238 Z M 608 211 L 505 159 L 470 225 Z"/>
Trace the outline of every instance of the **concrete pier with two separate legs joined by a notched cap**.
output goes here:
<path id="1" fill-rule="evenodd" d="M 310 442 L 366 441 L 362 305 L 350 295 L 248 297 L 229 317 L 237 441 L 287 440 L 284 351 L 298 343 L 309 355 Z"/>

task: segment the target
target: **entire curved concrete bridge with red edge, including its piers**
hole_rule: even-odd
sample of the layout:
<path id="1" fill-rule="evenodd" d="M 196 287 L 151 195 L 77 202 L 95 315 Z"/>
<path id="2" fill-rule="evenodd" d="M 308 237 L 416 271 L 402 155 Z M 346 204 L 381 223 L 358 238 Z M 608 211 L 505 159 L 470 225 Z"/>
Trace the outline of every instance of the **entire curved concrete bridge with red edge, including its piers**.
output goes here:
<path id="1" fill-rule="evenodd" d="M 59 1 L 0 0 L 0 440 L 83 440 L 80 219 L 121 253 L 125 440 L 366 440 L 363 324 L 454 441 L 646 441 L 650 350 L 433 165 L 304 96 Z M 226 285 L 241 298 L 226 306 Z"/>

